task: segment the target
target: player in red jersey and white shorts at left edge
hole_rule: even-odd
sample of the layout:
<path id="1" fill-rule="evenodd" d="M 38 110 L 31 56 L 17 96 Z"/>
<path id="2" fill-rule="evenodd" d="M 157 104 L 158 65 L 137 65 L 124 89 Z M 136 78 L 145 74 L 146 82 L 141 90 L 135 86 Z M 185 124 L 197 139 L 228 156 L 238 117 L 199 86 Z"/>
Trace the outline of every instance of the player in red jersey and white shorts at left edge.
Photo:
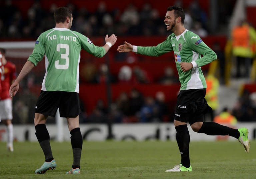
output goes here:
<path id="1" fill-rule="evenodd" d="M 13 125 L 12 125 L 12 99 L 9 95 L 9 88 L 16 78 L 15 64 L 9 62 L 5 58 L 6 50 L 0 48 L 2 54 L 2 74 L 1 74 L 1 86 L 0 92 L 0 116 L 2 121 L 7 127 L 7 148 L 9 151 L 13 151 Z"/>

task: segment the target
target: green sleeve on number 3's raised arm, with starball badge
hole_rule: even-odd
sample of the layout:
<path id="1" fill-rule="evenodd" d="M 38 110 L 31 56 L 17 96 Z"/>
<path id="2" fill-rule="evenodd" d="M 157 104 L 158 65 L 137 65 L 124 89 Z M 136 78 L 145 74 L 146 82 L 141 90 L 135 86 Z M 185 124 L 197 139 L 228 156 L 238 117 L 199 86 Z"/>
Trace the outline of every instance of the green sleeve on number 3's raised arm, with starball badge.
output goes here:
<path id="1" fill-rule="evenodd" d="M 103 57 L 106 54 L 106 51 L 102 46 L 94 45 L 88 37 L 80 33 L 77 33 L 77 35 L 80 39 L 81 48 L 87 51 L 88 53 L 96 57 Z"/>

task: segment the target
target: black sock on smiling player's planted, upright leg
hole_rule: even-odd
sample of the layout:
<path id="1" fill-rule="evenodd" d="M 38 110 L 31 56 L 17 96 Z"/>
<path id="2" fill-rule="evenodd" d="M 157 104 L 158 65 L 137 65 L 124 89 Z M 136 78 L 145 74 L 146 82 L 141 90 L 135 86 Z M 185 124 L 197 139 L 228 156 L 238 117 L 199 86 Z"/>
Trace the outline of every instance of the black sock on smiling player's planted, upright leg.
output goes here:
<path id="1" fill-rule="evenodd" d="M 190 136 L 188 132 L 187 125 L 180 125 L 175 127 L 176 133 L 176 140 L 180 149 L 181 154 L 181 164 L 189 168 L 190 167 L 190 160 L 189 160 L 189 141 Z"/>

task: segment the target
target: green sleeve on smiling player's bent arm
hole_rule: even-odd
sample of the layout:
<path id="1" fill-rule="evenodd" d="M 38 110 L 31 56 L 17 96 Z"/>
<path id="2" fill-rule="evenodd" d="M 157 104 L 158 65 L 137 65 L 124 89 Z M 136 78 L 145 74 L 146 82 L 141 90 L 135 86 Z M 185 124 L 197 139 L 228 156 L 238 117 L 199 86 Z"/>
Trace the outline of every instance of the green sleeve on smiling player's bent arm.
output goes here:
<path id="1" fill-rule="evenodd" d="M 216 60 L 217 59 L 216 53 L 211 48 L 209 48 L 202 41 L 202 39 L 199 38 L 198 35 L 196 34 L 193 34 L 193 35 L 187 38 L 188 44 L 195 52 L 198 52 L 199 54 L 203 55 L 202 58 L 195 60 L 195 62 L 197 63 L 197 66 L 200 67 Z"/>

